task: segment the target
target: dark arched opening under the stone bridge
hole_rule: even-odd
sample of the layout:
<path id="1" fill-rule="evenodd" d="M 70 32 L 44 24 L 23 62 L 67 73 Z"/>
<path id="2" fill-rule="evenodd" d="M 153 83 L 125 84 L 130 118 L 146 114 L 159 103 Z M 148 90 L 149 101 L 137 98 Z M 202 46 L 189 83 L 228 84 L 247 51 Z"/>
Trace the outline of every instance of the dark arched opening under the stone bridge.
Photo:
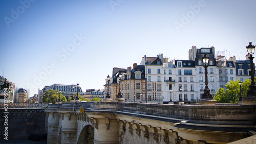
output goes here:
<path id="1" fill-rule="evenodd" d="M 94 127 L 92 125 L 86 125 L 83 127 L 82 131 L 79 134 L 77 143 L 94 143 Z"/>

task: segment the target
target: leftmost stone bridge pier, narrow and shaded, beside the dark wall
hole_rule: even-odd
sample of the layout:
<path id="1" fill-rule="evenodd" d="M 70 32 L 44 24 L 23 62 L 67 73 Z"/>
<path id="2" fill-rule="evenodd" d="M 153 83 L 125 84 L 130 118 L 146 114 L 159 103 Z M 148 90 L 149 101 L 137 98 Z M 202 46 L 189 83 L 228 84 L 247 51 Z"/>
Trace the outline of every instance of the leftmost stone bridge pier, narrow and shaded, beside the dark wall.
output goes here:
<path id="1" fill-rule="evenodd" d="M 48 110 L 48 137 L 47 143 L 57 143 L 58 141 L 58 127 L 59 115 L 56 110 Z"/>

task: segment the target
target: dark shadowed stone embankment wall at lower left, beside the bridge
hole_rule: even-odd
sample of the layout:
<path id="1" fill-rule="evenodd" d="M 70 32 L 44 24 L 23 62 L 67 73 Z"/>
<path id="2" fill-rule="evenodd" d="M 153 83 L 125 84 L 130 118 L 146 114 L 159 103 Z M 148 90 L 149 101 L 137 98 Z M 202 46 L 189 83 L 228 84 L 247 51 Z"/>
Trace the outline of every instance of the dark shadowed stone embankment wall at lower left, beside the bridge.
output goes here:
<path id="1" fill-rule="evenodd" d="M 31 134 L 47 132 L 47 117 L 44 109 L 8 109 L 8 126 L 4 126 L 4 110 L 0 110 L 0 139 L 4 139 L 8 127 L 8 139 L 28 139 Z"/>

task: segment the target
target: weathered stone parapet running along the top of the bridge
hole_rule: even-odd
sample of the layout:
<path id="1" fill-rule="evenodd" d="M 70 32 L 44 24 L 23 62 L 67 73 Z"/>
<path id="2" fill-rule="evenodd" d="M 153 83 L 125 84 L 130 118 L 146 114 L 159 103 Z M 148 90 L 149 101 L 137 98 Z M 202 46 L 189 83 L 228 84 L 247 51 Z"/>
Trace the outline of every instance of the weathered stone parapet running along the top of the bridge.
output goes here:
<path id="1" fill-rule="evenodd" d="M 239 104 L 216 105 L 166 105 L 119 102 L 84 102 L 51 104 L 49 109 L 67 108 L 78 110 L 83 107 L 90 111 L 111 111 L 111 113 L 134 113 L 166 118 L 184 119 L 194 124 L 211 125 L 256 125 L 255 106 Z M 164 120 L 163 120 L 164 121 Z"/>

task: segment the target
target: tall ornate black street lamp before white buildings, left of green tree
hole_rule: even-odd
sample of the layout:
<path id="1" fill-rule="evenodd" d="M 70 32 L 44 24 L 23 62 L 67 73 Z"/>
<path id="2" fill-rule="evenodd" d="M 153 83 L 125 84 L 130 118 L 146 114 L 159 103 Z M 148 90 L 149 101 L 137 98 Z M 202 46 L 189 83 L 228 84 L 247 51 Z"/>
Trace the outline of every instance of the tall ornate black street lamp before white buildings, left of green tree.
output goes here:
<path id="1" fill-rule="evenodd" d="M 203 62 L 204 62 L 204 68 L 205 68 L 205 88 L 204 88 L 204 93 L 202 94 L 202 99 L 207 99 L 207 100 L 212 100 L 212 94 L 210 93 L 210 89 L 208 87 L 208 78 L 207 78 L 207 63 L 209 61 L 209 57 L 205 54 L 203 57 Z"/>

